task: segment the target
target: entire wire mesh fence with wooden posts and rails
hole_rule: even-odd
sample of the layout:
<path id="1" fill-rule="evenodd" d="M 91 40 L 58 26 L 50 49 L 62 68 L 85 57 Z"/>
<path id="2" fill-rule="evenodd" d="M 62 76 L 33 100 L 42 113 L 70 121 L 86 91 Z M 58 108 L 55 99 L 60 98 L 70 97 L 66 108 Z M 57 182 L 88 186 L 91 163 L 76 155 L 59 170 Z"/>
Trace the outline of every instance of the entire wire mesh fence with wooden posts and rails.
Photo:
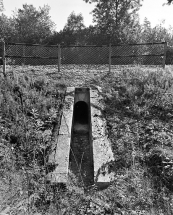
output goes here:
<path id="1" fill-rule="evenodd" d="M 167 43 L 104 46 L 60 46 L 3 43 L 0 58 L 5 65 L 158 65 L 165 67 Z"/>

